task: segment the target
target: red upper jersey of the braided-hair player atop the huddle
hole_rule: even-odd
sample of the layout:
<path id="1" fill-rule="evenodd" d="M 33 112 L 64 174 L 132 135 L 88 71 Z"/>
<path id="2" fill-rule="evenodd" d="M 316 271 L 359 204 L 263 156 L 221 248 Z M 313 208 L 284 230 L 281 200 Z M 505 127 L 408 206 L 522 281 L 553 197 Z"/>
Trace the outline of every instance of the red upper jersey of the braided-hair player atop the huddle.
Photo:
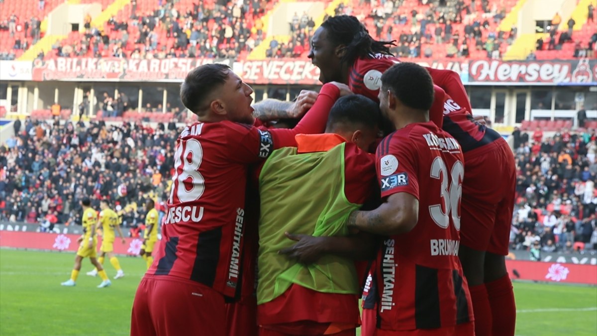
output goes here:
<path id="1" fill-rule="evenodd" d="M 348 86 L 350 90 L 378 102 L 377 94 L 381 87 L 381 74 L 396 63 L 400 63 L 400 60 L 384 54 L 376 54 L 367 59 L 357 59 L 349 72 Z M 456 72 L 433 68 L 426 69 L 429 71 L 434 84 L 454 97 L 454 100 L 460 106 L 464 106 L 467 111 L 472 111 L 466 90 L 464 90 L 460 76 Z"/>

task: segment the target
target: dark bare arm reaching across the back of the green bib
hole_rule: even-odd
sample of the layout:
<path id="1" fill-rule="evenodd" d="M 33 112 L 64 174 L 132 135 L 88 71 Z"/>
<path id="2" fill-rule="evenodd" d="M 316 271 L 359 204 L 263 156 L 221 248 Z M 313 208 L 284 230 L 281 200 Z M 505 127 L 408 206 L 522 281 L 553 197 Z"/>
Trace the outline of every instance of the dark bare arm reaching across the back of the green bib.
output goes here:
<path id="1" fill-rule="evenodd" d="M 375 238 L 365 232 L 347 237 L 314 237 L 291 233 L 285 235 L 297 243 L 281 249 L 278 253 L 297 259 L 301 264 L 312 264 L 326 254 L 354 260 L 373 259 L 375 256 Z"/>

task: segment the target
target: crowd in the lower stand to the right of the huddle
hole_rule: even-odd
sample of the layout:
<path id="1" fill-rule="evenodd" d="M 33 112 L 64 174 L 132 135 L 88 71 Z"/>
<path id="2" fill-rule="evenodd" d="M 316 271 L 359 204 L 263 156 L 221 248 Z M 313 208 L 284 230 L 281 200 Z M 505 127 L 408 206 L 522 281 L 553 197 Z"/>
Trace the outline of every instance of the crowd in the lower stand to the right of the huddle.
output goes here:
<path id="1" fill-rule="evenodd" d="M 531 135 L 531 139 L 529 139 Z M 597 133 L 512 134 L 517 166 L 510 242 L 541 251 L 597 249 Z"/>

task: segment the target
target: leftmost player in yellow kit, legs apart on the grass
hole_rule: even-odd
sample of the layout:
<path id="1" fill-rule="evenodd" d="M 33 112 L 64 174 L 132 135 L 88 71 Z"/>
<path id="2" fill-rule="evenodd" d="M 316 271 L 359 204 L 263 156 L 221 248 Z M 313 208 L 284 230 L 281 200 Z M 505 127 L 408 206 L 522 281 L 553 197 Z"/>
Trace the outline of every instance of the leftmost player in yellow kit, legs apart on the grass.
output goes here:
<path id="1" fill-rule="evenodd" d="M 91 264 L 93 264 L 97 268 L 97 274 L 99 274 L 101 277 L 101 283 L 97 287 L 103 288 L 110 286 L 112 285 L 112 283 L 110 282 L 110 279 L 108 279 L 106 271 L 104 271 L 104 269 L 101 267 L 101 264 L 97 262 L 96 259 L 96 210 L 93 210 L 91 208 L 91 201 L 89 200 L 89 198 L 83 198 L 81 200 L 81 206 L 83 207 L 83 235 L 79 237 L 79 239 L 77 240 L 80 246 L 79 250 L 76 252 L 75 266 L 73 267 L 73 270 L 70 273 L 70 279 L 60 283 L 60 285 L 75 286 L 76 278 L 79 276 L 79 271 L 81 270 L 81 261 L 83 260 L 83 258 L 89 257 Z"/>

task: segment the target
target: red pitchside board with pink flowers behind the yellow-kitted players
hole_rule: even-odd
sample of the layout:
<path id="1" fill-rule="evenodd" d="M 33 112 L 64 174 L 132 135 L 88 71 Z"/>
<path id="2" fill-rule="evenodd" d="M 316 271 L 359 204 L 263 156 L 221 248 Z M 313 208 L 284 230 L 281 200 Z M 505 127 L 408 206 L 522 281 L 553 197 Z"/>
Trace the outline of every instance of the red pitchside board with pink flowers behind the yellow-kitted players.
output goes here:
<path id="1" fill-rule="evenodd" d="M 79 234 L 56 234 L 22 231 L 0 231 L 0 246 L 3 248 L 40 249 L 50 251 L 73 251 L 79 249 L 76 242 Z M 137 238 L 125 238 L 126 243 L 122 244 L 120 238 L 114 242 L 114 253 L 139 255 L 143 241 Z M 159 248 L 158 240 L 154 251 Z M 101 237 L 98 237 L 97 248 L 101 246 Z"/>

